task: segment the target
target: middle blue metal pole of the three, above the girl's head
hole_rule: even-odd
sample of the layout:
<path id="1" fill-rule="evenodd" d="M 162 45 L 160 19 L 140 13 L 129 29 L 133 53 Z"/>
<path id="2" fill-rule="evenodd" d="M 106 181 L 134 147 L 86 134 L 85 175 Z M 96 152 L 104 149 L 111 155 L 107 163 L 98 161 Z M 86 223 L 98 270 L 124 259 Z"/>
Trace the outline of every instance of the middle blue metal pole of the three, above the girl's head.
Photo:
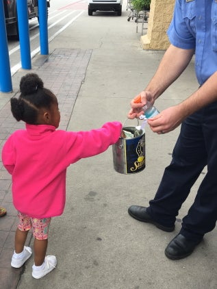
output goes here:
<path id="1" fill-rule="evenodd" d="M 18 30 L 21 47 L 21 65 L 23 69 L 31 69 L 27 0 L 16 0 L 16 10 L 18 16 Z"/>

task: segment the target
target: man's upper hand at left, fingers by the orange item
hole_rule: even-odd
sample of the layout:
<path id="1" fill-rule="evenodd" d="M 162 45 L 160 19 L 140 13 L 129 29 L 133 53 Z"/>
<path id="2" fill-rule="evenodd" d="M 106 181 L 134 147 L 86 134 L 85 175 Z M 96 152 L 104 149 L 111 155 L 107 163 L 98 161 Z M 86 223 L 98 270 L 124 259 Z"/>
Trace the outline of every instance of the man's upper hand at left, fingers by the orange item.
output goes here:
<path id="1" fill-rule="evenodd" d="M 131 110 L 129 111 L 127 117 L 128 118 L 138 118 L 140 115 L 144 113 L 144 110 L 142 108 L 146 103 L 149 101 L 150 105 L 153 105 L 155 102 L 151 92 L 149 91 L 142 91 L 140 92 L 139 95 L 134 97 L 134 99 L 131 100 L 130 105 L 131 105 Z"/>

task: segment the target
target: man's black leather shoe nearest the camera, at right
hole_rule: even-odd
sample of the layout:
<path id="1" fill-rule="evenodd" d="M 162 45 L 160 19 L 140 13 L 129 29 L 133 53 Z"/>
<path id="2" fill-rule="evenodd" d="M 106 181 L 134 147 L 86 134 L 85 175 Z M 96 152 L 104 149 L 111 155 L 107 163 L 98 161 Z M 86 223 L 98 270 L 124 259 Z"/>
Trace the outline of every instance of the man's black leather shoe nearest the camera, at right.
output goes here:
<path id="1" fill-rule="evenodd" d="M 171 260 L 179 260 L 188 257 L 195 247 L 203 240 L 190 240 L 185 236 L 178 234 L 173 238 L 165 249 L 165 255 Z"/>

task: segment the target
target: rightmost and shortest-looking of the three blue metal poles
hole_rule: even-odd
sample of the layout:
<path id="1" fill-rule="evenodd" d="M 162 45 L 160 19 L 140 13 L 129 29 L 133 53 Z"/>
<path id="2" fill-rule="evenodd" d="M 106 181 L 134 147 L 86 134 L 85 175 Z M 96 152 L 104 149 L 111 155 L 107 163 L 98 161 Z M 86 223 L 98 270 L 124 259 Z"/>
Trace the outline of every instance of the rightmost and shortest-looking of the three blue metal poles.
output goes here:
<path id="1" fill-rule="evenodd" d="M 47 29 L 47 0 L 38 0 L 40 54 L 49 54 Z"/>

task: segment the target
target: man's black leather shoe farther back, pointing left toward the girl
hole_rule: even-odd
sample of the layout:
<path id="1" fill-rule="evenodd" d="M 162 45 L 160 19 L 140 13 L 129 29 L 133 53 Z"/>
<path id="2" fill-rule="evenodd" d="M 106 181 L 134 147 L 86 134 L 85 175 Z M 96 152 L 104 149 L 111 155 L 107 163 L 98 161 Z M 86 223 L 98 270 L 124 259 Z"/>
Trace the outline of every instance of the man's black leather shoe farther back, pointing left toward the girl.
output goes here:
<path id="1" fill-rule="evenodd" d="M 140 222 L 151 223 L 163 231 L 174 231 L 175 229 L 175 226 L 165 227 L 154 221 L 153 218 L 151 218 L 151 216 L 149 216 L 149 214 L 146 212 L 146 207 L 140 207 L 140 205 L 131 205 L 131 207 L 128 209 L 128 213 L 133 218 L 136 218 L 136 220 Z"/>

